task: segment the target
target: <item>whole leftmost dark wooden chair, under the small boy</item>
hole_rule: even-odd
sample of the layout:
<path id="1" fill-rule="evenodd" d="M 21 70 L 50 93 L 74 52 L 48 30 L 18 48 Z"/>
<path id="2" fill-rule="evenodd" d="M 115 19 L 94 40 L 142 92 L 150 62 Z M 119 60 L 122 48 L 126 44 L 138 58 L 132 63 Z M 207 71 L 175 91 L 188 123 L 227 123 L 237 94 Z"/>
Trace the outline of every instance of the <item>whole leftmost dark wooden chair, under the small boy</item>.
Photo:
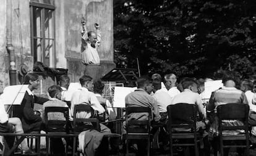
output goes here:
<path id="1" fill-rule="evenodd" d="M 63 113 L 65 120 L 49 120 L 48 113 Z M 45 107 L 45 125 L 47 134 L 69 134 L 69 108 L 68 107 Z M 49 138 L 62 138 L 60 136 L 46 136 L 46 155 L 49 151 Z M 50 149 L 51 150 L 51 149 Z M 66 152 L 67 155 L 67 146 Z"/>

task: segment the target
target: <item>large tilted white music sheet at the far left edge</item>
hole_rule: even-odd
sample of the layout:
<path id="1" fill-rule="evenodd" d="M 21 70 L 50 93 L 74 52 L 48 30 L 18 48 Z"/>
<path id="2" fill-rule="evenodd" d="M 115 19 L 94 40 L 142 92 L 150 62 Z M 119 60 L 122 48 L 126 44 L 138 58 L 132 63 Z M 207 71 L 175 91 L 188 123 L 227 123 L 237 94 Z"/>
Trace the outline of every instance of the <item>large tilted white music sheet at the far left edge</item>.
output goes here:
<path id="1" fill-rule="evenodd" d="M 28 84 L 7 86 L 0 97 L 5 105 L 20 105 L 27 88 Z"/>

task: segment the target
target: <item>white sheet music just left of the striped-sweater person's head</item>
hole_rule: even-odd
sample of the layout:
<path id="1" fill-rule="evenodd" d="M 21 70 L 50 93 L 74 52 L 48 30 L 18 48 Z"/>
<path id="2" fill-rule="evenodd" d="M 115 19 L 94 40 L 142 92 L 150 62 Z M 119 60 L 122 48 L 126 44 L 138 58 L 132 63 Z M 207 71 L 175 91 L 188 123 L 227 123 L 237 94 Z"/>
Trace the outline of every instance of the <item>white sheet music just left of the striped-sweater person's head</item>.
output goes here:
<path id="1" fill-rule="evenodd" d="M 222 80 L 207 81 L 205 82 L 205 91 L 202 92 L 202 99 L 210 99 L 211 92 L 216 91 L 223 87 Z"/>

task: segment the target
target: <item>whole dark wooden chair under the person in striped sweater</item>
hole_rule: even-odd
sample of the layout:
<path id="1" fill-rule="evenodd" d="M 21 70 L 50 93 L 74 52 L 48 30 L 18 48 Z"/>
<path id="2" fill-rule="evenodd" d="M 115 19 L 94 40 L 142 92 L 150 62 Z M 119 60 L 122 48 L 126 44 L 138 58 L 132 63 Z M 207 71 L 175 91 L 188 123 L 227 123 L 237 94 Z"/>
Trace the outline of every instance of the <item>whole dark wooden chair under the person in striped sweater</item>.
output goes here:
<path id="1" fill-rule="evenodd" d="M 249 129 L 248 129 L 248 115 L 249 105 L 229 103 L 225 105 L 219 105 L 217 107 L 217 117 L 219 119 L 219 132 L 220 132 L 220 152 L 223 156 L 223 148 L 226 147 L 245 147 L 246 155 L 249 155 Z M 224 126 L 223 120 L 239 120 L 244 123 L 242 126 Z M 237 130 L 243 129 L 244 134 L 223 134 L 223 130 Z M 224 145 L 223 141 L 246 141 L 245 145 L 227 144 Z"/>

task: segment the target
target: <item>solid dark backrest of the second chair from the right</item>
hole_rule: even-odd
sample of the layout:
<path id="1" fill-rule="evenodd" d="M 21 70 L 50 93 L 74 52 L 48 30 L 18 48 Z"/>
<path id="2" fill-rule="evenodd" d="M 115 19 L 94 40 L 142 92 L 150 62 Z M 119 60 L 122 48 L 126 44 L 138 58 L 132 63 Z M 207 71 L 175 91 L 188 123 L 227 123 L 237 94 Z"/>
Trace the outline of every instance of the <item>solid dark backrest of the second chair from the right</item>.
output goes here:
<path id="1" fill-rule="evenodd" d="M 179 103 L 168 105 L 168 128 L 196 129 L 197 106 L 195 104 Z"/>

